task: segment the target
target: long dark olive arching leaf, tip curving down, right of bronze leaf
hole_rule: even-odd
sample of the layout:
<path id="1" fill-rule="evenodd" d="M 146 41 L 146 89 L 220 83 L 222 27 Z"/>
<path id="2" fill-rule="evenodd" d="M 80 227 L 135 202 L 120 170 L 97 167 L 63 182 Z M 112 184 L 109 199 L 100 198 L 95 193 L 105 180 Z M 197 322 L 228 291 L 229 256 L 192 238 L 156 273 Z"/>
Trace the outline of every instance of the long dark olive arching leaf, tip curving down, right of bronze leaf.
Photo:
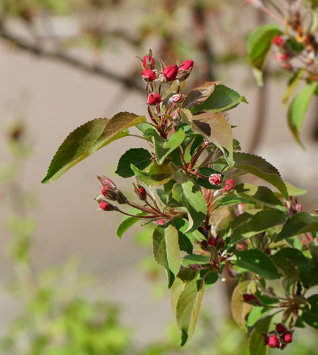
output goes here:
<path id="1" fill-rule="evenodd" d="M 233 159 L 234 168 L 246 171 L 246 173 L 255 175 L 258 178 L 269 182 L 282 193 L 287 203 L 289 203 L 286 185 L 280 177 L 279 171 L 272 164 L 257 155 L 242 152 L 234 152 Z M 216 160 L 214 163 L 227 165 L 227 162 L 223 157 Z"/>

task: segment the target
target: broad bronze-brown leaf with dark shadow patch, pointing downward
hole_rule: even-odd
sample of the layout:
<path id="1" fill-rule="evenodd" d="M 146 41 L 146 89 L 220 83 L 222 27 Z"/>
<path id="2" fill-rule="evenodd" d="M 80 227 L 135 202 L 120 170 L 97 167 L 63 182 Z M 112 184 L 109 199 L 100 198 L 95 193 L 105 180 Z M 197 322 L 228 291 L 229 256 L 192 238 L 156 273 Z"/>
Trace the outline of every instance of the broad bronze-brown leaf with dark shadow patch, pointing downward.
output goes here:
<path id="1" fill-rule="evenodd" d="M 233 166 L 232 128 L 220 111 L 192 115 L 191 126 L 194 132 L 207 137 L 209 141 L 220 148 L 228 165 Z"/>

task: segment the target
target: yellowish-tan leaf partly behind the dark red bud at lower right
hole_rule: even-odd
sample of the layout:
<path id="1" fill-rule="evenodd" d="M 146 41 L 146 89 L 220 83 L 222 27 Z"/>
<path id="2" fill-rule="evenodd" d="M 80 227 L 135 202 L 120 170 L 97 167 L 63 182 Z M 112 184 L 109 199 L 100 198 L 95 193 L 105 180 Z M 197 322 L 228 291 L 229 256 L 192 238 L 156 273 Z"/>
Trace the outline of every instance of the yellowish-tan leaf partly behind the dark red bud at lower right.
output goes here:
<path id="1" fill-rule="evenodd" d="M 240 282 L 234 288 L 231 299 L 233 319 L 244 332 L 247 332 L 245 325 L 246 316 L 249 314 L 253 306 L 244 302 L 243 294 L 248 293 L 250 291 L 250 287 L 253 289 L 251 291 L 256 291 L 254 282 L 251 283 L 250 280 Z"/>

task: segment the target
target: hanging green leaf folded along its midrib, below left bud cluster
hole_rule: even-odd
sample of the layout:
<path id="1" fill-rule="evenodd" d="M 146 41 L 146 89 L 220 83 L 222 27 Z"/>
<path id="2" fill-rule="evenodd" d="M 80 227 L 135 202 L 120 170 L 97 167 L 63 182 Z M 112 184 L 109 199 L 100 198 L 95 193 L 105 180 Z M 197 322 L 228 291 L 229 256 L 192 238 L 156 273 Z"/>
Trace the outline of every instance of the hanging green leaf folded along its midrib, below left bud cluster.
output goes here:
<path id="1" fill-rule="evenodd" d="M 156 227 L 153 231 L 152 247 L 155 261 L 166 269 L 170 288 L 180 269 L 178 231 L 172 225 Z"/>

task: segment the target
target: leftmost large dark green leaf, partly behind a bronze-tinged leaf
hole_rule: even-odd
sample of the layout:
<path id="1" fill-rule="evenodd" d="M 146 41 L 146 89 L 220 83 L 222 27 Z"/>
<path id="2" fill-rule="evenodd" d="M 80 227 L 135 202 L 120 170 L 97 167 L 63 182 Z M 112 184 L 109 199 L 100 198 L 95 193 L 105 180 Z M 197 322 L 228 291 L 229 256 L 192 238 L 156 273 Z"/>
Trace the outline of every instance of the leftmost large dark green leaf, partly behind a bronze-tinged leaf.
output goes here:
<path id="1" fill-rule="evenodd" d="M 55 153 L 42 184 L 54 181 L 63 175 L 73 165 L 88 157 L 88 151 L 96 138 L 101 134 L 108 122 L 107 118 L 98 118 L 76 128 L 71 132 Z M 127 136 L 122 132 L 118 139 Z"/>

